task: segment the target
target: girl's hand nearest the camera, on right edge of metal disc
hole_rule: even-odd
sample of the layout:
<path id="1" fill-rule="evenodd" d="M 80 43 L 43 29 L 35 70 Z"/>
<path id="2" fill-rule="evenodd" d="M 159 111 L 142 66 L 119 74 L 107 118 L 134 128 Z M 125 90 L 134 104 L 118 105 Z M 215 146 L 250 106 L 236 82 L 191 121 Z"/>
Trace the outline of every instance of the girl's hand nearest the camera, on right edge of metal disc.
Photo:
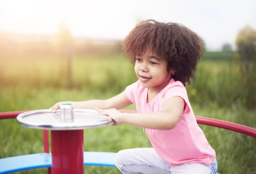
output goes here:
<path id="1" fill-rule="evenodd" d="M 116 126 L 120 126 L 123 124 L 122 122 L 122 112 L 119 112 L 117 109 L 98 109 L 95 108 L 95 110 L 98 112 L 98 115 L 106 115 L 109 116 L 110 118 L 113 119 L 113 121 L 115 122 L 114 125 Z"/>

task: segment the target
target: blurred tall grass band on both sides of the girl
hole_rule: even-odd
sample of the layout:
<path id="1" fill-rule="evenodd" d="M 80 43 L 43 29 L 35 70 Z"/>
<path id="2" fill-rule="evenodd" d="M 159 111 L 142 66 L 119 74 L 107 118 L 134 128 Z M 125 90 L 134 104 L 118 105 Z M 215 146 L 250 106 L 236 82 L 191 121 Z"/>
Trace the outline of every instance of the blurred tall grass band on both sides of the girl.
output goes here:
<path id="1" fill-rule="evenodd" d="M 249 80 L 247 77 L 250 77 Z M 75 57 L 72 63 L 73 89 L 94 92 L 122 92 L 137 80 L 134 66 L 123 56 Z M 60 59 L 0 60 L 0 87 L 67 88 L 67 65 Z M 248 81 L 250 81 L 248 83 Z M 201 106 L 255 108 L 256 74 L 241 72 L 232 60 L 202 60 L 191 85 L 189 97 Z"/>

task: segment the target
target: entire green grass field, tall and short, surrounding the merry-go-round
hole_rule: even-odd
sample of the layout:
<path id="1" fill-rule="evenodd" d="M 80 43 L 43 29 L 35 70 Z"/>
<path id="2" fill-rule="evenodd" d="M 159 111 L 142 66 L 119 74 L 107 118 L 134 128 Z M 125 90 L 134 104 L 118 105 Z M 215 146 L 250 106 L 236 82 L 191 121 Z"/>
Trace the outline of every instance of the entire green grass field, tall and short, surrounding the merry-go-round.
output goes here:
<path id="1" fill-rule="evenodd" d="M 0 112 L 46 109 L 58 101 L 106 99 L 116 95 L 136 80 L 133 66 L 123 59 L 74 59 L 73 88 L 69 90 L 65 87 L 65 64 L 56 60 L 0 60 Z M 239 78 L 234 73 L 236 70 L 238 67 L 230 62 L 201 62 L 196 80 L 187 86 L 193 110 L 196 115 L 256 128 L 256 111 L 245 109 L 242 90 L 234 83 Z M 219 173 L 255 173 L 256 138 L 210 126 L 200 127 L 216 151 Z M 42 131 L 22 127 L 15 120 L 0 120 L 0 139 L 0 158 L 43 152 Z M 140 147 L 151 147 L 151 144 L 138 127 L 108 126 L 84 131 L 84 151 L 118 152 Z M 119 173 L 116 168 L 108 167 L 85 167 L 85 171 Z M 32 173 L 46 172 L 44 169 L 20 172 Z"/>

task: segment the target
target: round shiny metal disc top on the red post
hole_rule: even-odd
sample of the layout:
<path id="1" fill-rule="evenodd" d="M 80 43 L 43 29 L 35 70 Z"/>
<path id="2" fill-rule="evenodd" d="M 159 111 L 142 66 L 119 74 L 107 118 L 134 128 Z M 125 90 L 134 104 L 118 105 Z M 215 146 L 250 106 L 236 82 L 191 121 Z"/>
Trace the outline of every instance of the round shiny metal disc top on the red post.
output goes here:
<path id="1" fill-rule="evenodd" d="M 52 113 L 52 109 L 41 109 L 23 112 L 16 120 L 22 126 L 48 130 L 91 129 L 113 124 L 113 120 L 105 115 L 97 115 L 93 109 L 72 109 L 72 117 L 60 109 Z M 64 114 L 63 114 L 64 113 Z M 61 115 L 62 114 L 62 115 Z"/>

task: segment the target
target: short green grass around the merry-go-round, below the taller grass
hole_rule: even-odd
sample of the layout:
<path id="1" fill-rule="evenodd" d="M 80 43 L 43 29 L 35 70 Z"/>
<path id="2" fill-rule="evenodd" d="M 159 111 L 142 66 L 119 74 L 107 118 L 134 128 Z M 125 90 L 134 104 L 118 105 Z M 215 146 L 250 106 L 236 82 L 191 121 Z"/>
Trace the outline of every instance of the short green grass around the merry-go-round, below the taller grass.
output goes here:
<path id="1" fill-rule="evenodd" d="M 122 80 L 122 79 L 121 79 Z M 28 85 L 29 86 L 29 85 Z M 200 91 L 198 91 L 199 93 Z M 47 109 L 58 101 L 106 99 L 118 92 L 92 90 L 56 90 L 54 88 L 1 87 L 0 112 Z M 217 118 L 256 128 L 256 112 L 247 111 L 239 104 L 230 108 L 212 104 L 201 107 L 192 103 L 196 115 Z M 134 105 L 128 109 L 135 109 Z M 254 174 L 256 171 L 256 138 L 224 129 L 200 125 L 218 158 L 221 174 Z M 43 152 L 42 131 L 20 126 L 14 119 L 0 120 L 0 158 Z M 118 152 L 121 149 L 151 147 L 142 128 L 130 125 L 107 126 L 84 130 L 84 151 Z M 118 174 L 116 168 L 86 166 L 90 174 Z M 20 174 L 46 174 L 45 169 Z"/>

